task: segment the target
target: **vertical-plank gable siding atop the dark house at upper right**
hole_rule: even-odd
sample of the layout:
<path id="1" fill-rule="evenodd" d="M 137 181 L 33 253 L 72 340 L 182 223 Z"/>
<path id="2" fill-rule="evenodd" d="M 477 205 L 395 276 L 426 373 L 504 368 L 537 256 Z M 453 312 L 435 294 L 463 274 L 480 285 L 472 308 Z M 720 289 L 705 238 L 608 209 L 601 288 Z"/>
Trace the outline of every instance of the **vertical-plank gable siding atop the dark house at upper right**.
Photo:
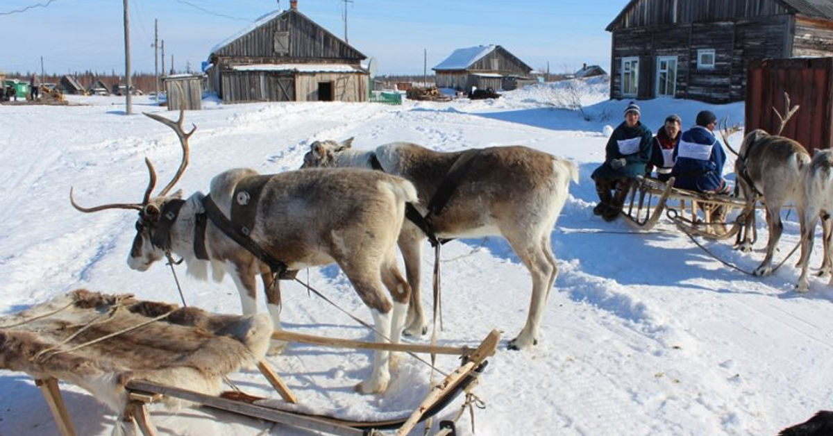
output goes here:
<path id="1" fill-rule="evenodd" d="M 736 21 L 787 13 L 776 0 L 639 0 L 628 5 L 607 30 Z"/>

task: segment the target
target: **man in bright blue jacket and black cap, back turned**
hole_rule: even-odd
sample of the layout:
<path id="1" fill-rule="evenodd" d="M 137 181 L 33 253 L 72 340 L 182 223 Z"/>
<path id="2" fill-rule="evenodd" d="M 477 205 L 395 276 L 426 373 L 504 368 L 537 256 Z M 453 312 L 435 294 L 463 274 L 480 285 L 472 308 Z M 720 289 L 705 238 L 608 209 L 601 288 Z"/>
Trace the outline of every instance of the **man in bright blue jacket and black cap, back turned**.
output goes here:
<path id="1" fill-rule="evenodd" d="M 730 192 L 723 178 L 726 152 L 713 133 L 716 125 L 714 113 L 701 111 L 697 114 L 697 125 L 682 134 L 671 170 L 676 188 L 701 193 Z"/>

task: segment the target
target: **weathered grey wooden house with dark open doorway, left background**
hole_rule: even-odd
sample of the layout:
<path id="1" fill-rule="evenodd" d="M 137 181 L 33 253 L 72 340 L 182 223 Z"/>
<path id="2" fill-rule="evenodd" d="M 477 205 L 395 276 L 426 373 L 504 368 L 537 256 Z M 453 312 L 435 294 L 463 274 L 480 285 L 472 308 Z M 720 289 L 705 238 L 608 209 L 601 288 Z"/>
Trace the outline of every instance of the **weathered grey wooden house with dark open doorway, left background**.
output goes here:
<path id="1" fill-rule="evenodd" d="M 365 102 L 367 58 L 298 12 L 297 1 L 212 48 L 208 88 L 223 102 Z"/>

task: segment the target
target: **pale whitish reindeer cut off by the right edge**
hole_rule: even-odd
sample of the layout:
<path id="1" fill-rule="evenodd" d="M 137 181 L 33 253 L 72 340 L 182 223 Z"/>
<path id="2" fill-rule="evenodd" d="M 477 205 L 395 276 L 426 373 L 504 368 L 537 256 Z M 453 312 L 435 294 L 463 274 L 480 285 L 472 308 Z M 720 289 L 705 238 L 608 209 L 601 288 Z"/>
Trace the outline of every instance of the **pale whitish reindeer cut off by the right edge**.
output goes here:
<path id="1" fill-rule="evenodd" d="M 826 149 L 816 152 L 810 165 L 806 168 L 802 183 L 801 208 L 799 221 L 801 223 L 801 258 L 796 266 L 801 268 L 796 290 L 805 292 L 810 288 L 807 279 L 807 263 L 813 251 L 813 238 L 816 236 L 816 223 L 822 217 L 824 258 L 821 263 L 820 276 L 830 274 L 831 270 L 831 217 L 833 213 L 833 150 Z M 833 286 L 831 275 L 828 286 Z"/>

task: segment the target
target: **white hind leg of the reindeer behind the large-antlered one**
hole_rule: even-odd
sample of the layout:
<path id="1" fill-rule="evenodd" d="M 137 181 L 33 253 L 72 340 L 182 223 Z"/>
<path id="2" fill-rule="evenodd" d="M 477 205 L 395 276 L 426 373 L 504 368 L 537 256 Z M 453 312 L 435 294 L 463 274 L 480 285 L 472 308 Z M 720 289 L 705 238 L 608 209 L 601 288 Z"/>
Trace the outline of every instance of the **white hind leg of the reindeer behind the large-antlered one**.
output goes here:
<path id="1" fill-rule="evenodd" d="M 536 243 L 530 244 L 531 241 L 525 241 L 515 235 L 506 233 L 504 235 L 532 277 L 532 297 L 529 304 L 529 313 L 526 316 L 526 324 L 521 329 L 521 333 L 509 341 L 508 346 L 509 349 L 523 350 L 538 343 L 536 335 L 546 306 L 546 296 L 549 293 L 547 284 L 554 279 L 555 268 L 553 268 L 544 250 L 540 247 L 540 242 L 536 241 Z"/>

